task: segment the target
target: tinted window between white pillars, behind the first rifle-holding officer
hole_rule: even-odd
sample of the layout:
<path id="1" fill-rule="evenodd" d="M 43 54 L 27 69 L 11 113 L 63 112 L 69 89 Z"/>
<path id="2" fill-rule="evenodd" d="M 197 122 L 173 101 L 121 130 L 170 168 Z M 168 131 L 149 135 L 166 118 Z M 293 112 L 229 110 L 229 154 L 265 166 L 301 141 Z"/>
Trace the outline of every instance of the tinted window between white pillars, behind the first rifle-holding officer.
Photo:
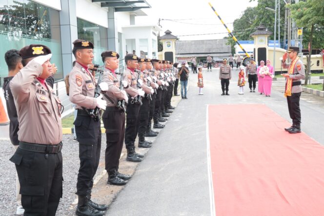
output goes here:
<path id="1" fill-rule="evenodd" d="M 78 38 L 94 44 L 94 64 L 103 65 L 101 53 L 108 49 L 108 29 L 78 18 Z"/>

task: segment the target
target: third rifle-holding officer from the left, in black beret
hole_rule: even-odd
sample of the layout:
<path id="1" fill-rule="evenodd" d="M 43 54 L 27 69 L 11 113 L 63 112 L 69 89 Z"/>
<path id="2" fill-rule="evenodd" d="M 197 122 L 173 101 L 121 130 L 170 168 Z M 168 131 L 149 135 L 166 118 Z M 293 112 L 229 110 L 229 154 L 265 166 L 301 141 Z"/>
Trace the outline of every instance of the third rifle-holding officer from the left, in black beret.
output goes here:
<path id="1" fill-rule="evenodd" d="M 138 67 L 138 57 L 133 54 L 125 56 L 126 69 L 123 80 L 128 83 L 125 88 L 129 94 L 128 105 L 126 107 L 126 129 L 125 129 L 125 146 L 127 149 L 127 161 L 141 162 L 143 155 L 135 151 L 135 139 L 139 130 L 140 108 L 142 97 L 145 92 L 139 88 L 142 83 L 138 79 L 138 73 L 135 69 Z M 139 86 L 138 86 L 138 82 Z"/>

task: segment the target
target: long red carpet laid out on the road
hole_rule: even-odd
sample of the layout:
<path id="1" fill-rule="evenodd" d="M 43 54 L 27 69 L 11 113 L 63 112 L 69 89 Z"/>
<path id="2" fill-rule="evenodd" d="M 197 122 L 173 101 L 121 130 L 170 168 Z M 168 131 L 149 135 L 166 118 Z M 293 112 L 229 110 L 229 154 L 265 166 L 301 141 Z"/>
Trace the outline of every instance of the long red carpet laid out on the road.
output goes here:
<path id="1" fill-rule="evenodd" d="M 324 216 L 323 146 L 265 105 L 208 112 L 216 216 Z"/>

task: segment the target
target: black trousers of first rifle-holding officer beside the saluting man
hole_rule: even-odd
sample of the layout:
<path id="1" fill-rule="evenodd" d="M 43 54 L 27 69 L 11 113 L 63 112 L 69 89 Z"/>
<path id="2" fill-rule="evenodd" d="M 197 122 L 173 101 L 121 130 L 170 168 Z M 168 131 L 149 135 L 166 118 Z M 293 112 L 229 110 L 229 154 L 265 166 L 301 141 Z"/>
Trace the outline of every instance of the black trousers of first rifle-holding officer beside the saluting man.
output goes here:
<path id="1" fill-rule="evenodd" d="M 100 121 L 95 121 L 84 110 L 78 109 L 74 121 L 76 134 L 79 141 L 80 169 L 78 173 L 77 194 L 86 196 L 93 187 L 100 159 L 101 127 Z"/>

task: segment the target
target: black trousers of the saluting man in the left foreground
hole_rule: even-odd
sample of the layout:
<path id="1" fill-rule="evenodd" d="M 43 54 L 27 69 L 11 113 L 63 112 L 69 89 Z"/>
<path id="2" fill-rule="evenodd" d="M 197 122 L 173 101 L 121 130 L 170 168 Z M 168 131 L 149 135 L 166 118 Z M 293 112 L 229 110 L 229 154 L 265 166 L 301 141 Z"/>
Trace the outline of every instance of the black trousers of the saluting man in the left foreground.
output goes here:
<path id="1" fill-rule="evenodd" d="M 18 148 L 16 164 L 24 216 L 55 216 L 62 197 L 62 153 L 41 153 Z"/>

